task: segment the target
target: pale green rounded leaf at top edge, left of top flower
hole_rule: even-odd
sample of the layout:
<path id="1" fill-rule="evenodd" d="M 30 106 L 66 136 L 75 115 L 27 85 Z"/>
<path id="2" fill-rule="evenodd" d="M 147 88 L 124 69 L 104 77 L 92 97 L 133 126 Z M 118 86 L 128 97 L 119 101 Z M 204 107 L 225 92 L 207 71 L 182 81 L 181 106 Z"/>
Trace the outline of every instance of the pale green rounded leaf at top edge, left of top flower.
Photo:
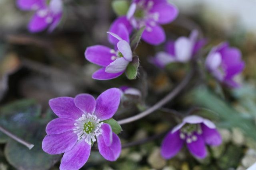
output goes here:
<path id="1" fill-rule="evenodd" d="M 129 10 L 130 4 L 127 0 L 114 0 L 112 2 L 112 8 L 116 15 L 124 16 Z"/>

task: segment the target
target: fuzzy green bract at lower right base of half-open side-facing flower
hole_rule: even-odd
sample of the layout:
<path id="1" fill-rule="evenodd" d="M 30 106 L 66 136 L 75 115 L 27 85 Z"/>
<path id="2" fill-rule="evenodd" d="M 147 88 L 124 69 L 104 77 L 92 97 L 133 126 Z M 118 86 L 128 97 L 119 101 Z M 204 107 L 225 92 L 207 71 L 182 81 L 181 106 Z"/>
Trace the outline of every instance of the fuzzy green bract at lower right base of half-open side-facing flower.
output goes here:
<path id="1" fill-rule="evenodd" d="M 139 63 L 140 62 L 138 56 L 135 56 L 133 57 L 132 62 L 128 64 L 125 71 L 125 75 L 128 79 L 133 80 L 136 78 L 138 74 Z"/>

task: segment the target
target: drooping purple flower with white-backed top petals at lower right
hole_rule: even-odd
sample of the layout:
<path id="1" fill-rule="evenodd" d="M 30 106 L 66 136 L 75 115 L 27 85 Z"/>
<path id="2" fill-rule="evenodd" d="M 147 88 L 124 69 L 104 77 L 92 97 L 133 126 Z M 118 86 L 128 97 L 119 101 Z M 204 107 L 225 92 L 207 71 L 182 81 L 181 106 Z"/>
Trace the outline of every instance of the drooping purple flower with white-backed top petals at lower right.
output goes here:
<path id="1" fill-rule="evenodd" d="M 175 156 L 186 143 L 188 150 L 197 158 L 205 158 L 206 146 L 218 146 L 222 138 L 214 123 L 197 115 L 187 116 L 182 123 L 170 131 L 162 141 L 161 154 L 170 159 Z"/>

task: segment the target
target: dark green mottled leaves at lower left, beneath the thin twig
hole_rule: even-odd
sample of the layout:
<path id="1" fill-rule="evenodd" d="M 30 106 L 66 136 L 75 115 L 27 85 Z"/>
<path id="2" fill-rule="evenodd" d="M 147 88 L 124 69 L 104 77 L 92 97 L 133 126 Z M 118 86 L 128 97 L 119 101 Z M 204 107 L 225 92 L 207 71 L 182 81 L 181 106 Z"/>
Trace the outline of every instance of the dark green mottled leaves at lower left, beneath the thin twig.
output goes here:
<path id="1" fill-rule="evenodd" d="M 50 155 L 42 150 L 42 139 L 46 135 L 46 123 L 52 119 L 40 118 L 40 106 L 33 100 L 20 100 L 0 107 L 0 124 L 14 135 L 34 144 L 27 147 L 0 133 L 0 141 L 7 142 L 4 154 L 7 161 L 18 170 L 46 170 L 51 168 L 60 155 Z"/>

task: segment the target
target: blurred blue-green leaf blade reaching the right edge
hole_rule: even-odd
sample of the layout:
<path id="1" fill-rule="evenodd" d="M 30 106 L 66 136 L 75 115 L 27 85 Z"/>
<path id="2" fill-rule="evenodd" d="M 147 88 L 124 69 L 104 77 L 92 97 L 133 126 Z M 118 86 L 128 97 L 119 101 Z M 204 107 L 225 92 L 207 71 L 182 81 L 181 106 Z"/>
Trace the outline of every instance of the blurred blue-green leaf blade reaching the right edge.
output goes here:
<path id="1" fill-rule="evenodd" d="M 214 111 L 220 117 L 220 126 L 224 128 L 239 127 L 245 135 L 256 140 L 256 125 L 252 117 L 239 113 L 222 99 L 218 98 L 206 88 L 198 88 L 193 92 L 196 104 Z"/>

